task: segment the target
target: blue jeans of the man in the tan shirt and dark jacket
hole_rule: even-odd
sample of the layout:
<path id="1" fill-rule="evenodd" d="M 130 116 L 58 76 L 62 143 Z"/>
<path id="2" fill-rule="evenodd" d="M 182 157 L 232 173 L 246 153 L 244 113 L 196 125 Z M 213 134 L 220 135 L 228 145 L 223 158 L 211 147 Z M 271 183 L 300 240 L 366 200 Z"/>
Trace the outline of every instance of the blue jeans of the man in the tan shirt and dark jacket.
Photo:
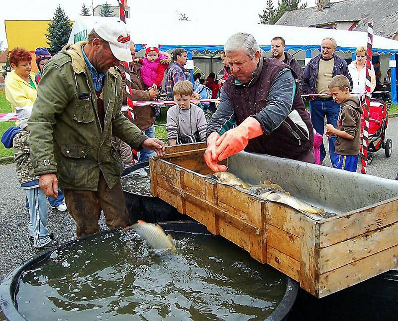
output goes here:
<path id="1" fill-rule="evenodd" d="M 334 128 L 337 126 L 337 118 L 340 113 L 340 105 L 335 103 L 331 98 L 330 99 L 315 99 L 309 102 L 311 109 L 311 122 L 315 131 L 322 135 L 325 127 L 325 116 L 327 120 L 327 124 L 332 124 Z M 334 143 L 336 142 L 336 136 L 333 135 L 332 138 L 329 138 L 329 156 L 332 165 L 334 164 L 335 154 L 334 154 Z M 320 161 L 325 159 L 326 150 L 322 145 L 319 147 L 320 149 Z"/>

